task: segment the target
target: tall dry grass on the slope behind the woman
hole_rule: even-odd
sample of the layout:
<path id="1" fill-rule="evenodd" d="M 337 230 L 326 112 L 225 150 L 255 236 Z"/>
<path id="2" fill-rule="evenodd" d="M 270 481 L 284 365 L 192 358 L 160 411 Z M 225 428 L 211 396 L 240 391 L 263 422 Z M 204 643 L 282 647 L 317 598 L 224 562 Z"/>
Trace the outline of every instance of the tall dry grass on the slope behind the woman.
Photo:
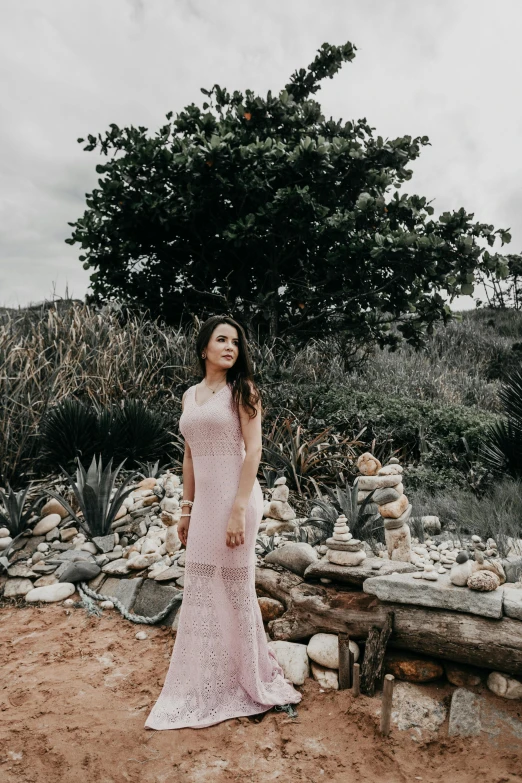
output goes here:
<path id="1" fill-rule="evenodd" d="M 281 350 L 277 340 L 252 341 L 251 350 L 268 398 L 282 381 L 296 388 L 321 383 L 498 411 L 499 382 L 487 379 L 487 368 L 521 335 L 521 313 L 477 311 L 436 329 L 420 352 L 376 350 L 355 369 L 365 349 L 343 358 L 349 352 L 336 336 L 310 340 L 300 350 Z M 179 413 L 181 392 L 197 380 L 192 329 L 78 301 L 0 311 L 0 483 L 33 477 L 39 421 L 55 401 L 76 397 L 106 405 L 135 397 Z"/>

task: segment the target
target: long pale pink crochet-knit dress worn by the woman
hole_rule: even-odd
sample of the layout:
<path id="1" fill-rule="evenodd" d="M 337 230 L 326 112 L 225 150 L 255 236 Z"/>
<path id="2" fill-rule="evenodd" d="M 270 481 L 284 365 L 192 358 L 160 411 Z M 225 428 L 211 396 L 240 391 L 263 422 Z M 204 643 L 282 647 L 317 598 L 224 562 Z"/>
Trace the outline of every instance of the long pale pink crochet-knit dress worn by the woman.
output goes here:
<path id="1" fill-rule="evenodd" d="M 202 405 L 195 395 L 191 386 L 179 421 L 195 477 L 183 603 L 165 682 L 145 722 L 151 729 L 203 728 L 302 698 L 268 647 L 257 602 L 255 543 L 263 512 L 257 478 L 245 543 L 226 545 L 245 458 L 231 388 L 227 384 Z"/>

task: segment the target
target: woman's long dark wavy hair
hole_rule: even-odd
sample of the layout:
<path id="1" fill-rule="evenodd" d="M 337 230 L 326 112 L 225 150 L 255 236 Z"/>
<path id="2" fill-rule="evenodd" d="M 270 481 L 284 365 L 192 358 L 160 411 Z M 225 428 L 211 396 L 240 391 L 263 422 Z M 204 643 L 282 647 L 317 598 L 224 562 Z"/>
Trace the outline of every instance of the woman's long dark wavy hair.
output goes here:
<path id="1" fill-rule="evenodd" d="M 253 375 L 252 360 L 248 349 L 245 330 L 234 318 L 229 315 L 212 315 L 201 324 L 196 338 L 196 352 L 201 374 L 205 377 L 205 360 L 201 356 L 207 347 L 214 329 L 220 324 L 230 324 L 237 329 L 239 340 L 238 355 L 234 365 L 227 370 L 227 383 L 231 387 L 232 396 L 236 405 L 239 402 L 249 411 L 250 418 L 257 414 L 255 405 L 261 400 L 261 394 L 256 386 Z M 263 408 L 261 407 L 261 411 Z M 250 413 L 252 411 L 252 413 Z"/>

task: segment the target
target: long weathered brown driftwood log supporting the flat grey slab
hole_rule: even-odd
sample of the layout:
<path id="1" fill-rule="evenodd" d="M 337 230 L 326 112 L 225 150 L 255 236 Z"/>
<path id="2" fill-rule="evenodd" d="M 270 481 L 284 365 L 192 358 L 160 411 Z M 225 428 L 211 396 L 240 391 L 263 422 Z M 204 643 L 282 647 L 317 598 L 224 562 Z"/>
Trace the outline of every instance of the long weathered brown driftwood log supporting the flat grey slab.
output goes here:
<path id="1" fill-rule="evenodd" d="M 372 626 L 384 626 L 391 610 L 390 647 L 522 675 L 520 620 L 382 602 L 362 591 L 311 585 L 296 574 L 268 568 L 256 569 L 256 588 L 286 607 L 268 624 L 273 639 L 297 641 L 323 632 L 365 640 Z"/>

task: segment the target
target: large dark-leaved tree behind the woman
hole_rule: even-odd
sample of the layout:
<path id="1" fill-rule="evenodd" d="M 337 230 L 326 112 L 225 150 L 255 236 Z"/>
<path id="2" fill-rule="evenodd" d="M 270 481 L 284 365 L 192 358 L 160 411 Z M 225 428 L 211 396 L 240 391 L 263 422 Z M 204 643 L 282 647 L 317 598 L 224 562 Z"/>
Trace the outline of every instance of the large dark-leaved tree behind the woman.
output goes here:
<path id="1" fill-rule="evenodd" d="M 504 274 L 485 244 L 509 242 L 506 230 L 464 209 L 433 219 L 425 197 L 399 193 L 427 136 L 383 139 L 365 118 L 321 113 L 312 96 L 355 50 L 323 44 L 278 95 L 202 89 L 208 100 L 169 112 L 154 138 L 115 124 L 89 135 L 84 149 L 110 159 L 65 240 L 93 270 L 89 300 L 170 323 L 229 312 L 299 342 L 335 332 L 419 345 L 451 318 L 445 292 Z"/>

